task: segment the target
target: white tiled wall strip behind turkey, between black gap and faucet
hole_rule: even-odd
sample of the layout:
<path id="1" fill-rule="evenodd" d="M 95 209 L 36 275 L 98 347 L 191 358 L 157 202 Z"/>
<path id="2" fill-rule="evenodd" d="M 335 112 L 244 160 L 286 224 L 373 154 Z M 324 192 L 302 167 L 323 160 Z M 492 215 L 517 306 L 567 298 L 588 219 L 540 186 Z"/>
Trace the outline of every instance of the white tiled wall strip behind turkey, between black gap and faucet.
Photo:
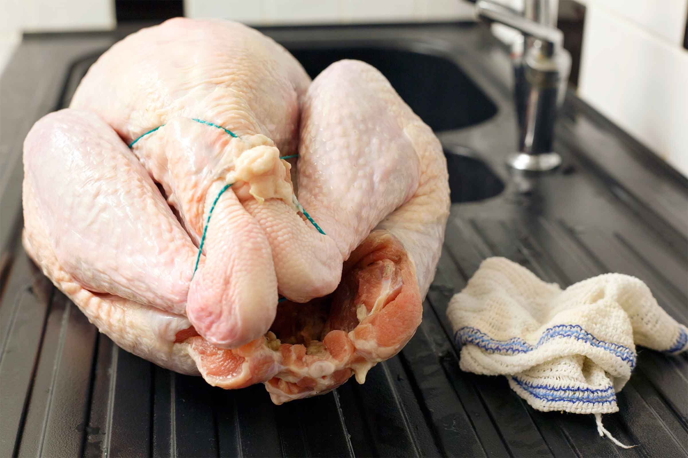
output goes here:
<path id="1" fill-rule="evenodd" d="M 184 0 L 184 11 L 252 25 L 456 21 L 473 14 L 461 0 Z"/>

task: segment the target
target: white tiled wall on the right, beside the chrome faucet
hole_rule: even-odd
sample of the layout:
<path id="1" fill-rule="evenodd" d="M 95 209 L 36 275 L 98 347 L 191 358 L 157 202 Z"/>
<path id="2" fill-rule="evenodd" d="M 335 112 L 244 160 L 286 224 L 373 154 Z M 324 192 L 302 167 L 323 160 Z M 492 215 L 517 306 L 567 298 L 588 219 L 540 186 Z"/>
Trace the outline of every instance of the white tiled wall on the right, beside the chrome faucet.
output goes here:
<path id="1" fill-rule="evenodd" d="M 579 95 L 688 176 L 688 0 L 586 0 Z"/>

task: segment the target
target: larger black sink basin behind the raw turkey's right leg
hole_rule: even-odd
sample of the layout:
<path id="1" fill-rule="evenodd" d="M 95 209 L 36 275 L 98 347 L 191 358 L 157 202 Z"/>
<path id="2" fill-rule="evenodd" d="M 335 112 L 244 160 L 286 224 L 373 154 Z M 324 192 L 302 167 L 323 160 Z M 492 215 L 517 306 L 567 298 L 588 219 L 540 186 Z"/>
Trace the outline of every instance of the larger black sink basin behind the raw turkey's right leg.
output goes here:
<path id="1" fill-rule="evenodd" d="M 368 62 L 436 132 L 472 126 L 497 113 L 497 106 L 457 65 L 439 56 L 369 47 L 289 50 L 311 78 L 337 60 Z"/>

